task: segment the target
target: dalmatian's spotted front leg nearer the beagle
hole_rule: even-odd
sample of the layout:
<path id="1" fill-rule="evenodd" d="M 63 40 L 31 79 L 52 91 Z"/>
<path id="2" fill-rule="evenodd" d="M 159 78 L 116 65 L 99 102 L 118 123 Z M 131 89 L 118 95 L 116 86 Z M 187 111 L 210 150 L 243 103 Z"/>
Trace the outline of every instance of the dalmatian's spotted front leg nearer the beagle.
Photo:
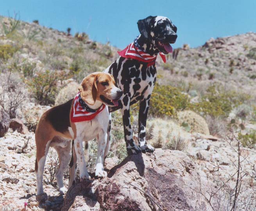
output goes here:
<path id="1" fill-rule="evenodd" d="M 124 96 L 122 99 L 124 101 L 124 105 L 122 107 L 122 117 L 123 117 L 123 125 L 124 125 L 124 139 L 126 143 L 127 154 L 139 154 L 141 153 L 140 147 L 138 147 L 132 138 L 132 127 L 131 127 L 131 118 L 130 118 L 130 101 L 131 99 L 128 97 L 128 94 Z"/>

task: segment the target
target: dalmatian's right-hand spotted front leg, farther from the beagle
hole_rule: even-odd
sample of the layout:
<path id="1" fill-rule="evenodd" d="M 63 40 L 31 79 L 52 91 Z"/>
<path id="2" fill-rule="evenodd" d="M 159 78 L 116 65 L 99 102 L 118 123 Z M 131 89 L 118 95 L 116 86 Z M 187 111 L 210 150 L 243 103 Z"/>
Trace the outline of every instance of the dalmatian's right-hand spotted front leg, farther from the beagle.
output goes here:
<path id="1" fill-rule="evenodd" d="M 143 153 L 154 152 L 155 148 L 146 142 L 146 125 L 147 125 L 147 114 L 149 111 L 150 94 L 146 98 L 140 100 L 140 110 L 139 110 L 139 146 Z"/>

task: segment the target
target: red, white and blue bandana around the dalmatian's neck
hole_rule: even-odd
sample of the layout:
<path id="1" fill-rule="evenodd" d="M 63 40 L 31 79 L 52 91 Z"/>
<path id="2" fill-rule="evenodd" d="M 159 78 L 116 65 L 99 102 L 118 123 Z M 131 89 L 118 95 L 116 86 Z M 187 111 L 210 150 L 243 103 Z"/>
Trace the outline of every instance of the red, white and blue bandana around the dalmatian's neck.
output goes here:
<path id="1" fill-rule="evenodd" d="M 117 52 L 121 57 L 136 59 L 140 62 L 146 62 L 148 63 L 148 67 L 156 63 L 157 55 L 151 56 L 149 53 L 141 51 L 139 48 L 134 46 L 134 43 L 129 44 L 124 50 Z M 159 54 L 163 59 L 163 62 L 166 62 L 165 55 L 162 52 L 160 52 Z"/>

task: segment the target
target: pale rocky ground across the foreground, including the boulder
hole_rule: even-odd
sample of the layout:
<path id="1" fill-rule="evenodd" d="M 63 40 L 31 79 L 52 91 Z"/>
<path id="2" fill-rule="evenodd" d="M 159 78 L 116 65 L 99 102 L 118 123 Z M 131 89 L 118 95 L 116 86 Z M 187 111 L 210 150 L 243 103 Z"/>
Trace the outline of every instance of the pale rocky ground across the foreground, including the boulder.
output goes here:
<path id="1" fill-rule="evenodd" d="M 203 211 L 212 210 L 211 206 L 217 210 L 227 206 L 226 197 L 236 184 L 238 142 L 235 138 L 213 141 L 194 134 L 186 153 L 157 149 L 152 155 L 129 156 L 119 165 L 116 165 L 117 158 L 108 158 L 107 178 L 78 181 L 64 198 L 55 183 L 44 182 L 48 199 L 39 204 L 35 197 L 34 133 L 22 135 L 9 129 L 0 142 L 0 204 L 6 211 L 20 210 L 24 202 L 29 210 Z M 248 199 L 248 204 L 255 205 L 255 153 L 252 149 L 240 149 L 242 189 L 238 210 L 246 210 L 244 202 Z M 45 181 L 50 178 L 50 163 L 47 158 Z M 64 183 L 68 184 L 68 178 L 64 178 Z M 209 204 L 204 196 L 209 199 L 213 193 Z"/>

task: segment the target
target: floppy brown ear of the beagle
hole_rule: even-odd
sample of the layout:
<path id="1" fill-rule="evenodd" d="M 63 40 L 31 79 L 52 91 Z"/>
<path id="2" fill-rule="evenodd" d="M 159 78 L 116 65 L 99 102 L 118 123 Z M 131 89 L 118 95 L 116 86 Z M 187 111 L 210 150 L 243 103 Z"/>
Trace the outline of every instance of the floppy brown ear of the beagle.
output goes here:
<path id="1" fill-rule="evenodd" d="M 90 74 L 84 78 L 81 85 L 78 87 L 81 98 L 90 105 L 94 105 L 97 99 L 98 90 L 96 81 L 97 74 Z"/>

